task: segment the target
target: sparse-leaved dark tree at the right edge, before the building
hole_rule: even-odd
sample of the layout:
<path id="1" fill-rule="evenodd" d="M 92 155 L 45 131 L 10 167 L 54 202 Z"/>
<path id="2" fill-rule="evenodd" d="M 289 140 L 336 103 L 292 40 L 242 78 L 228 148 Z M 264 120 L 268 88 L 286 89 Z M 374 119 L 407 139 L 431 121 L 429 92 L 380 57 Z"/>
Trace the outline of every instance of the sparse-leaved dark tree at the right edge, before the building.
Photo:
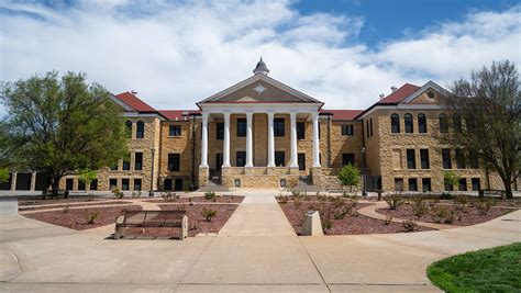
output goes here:
<path id="1" fill-rule="evenodd" d="M 456 121 L 466 128 L 455 127 L 446 138 L 456 147 L 470 151 L 487 169 L 497 171 L 507 198 L 512 198 L 512 183 L 520 173 L 521 94 L 514 64 L 492 63 L 473 71 L 470 79 L 459 79 L 447 99 Z"/>

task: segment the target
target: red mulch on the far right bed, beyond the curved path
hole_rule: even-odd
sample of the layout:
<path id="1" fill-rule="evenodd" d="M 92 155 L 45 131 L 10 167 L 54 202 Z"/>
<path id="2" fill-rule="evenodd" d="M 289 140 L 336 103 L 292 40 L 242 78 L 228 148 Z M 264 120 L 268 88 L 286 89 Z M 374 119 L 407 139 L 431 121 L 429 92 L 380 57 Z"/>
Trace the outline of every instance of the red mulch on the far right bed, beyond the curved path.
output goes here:
<path id="1" fill-rule="evenodd" d="M 431 204 L 432 205 L 432 204 Z M 437 203 L 433 204 L 434 206 L 440 206 L 443 205 L 447 211 L 453 211 L 454 210 L 454 204 L 453 202 L 448 203 L 443 202 L 443 203 Z M 388 207 L 386 209 L 378 209 L 377 212 L 383 214 L 383 215 L 389 215 L 392 217 L 397 218 L 404 218 L 404 219 L 412 219 L 412 221 L 419 221 L 419 222 L 426 222 L 426 223 L 436 223 L 432 216 L 432 207 L 429 206 L 429 212 L 421 216 L 418 217 L 414 215 L 412 211 L 412 204 L 404 204 L 398 207 L 398 210 L 389 210 Z M 480 211 L 478 211 L 476 207 L 469 207 L 468 205 L 464 210 L 465 212 L 461 212 L 459 219 L 456 219 L 454 223 L 441 223 L 441 224 L 447 224 L 447 225 L 456 225 L 456 226 L 470 226 L 470 225 L 476 225 L 480 223 L 488 222 L 490 219 L 494 219 L 496 217 L 502 216 L 505 214 L 508 214 L 510 212 L 516 211 L 514 209 L 503 209 L 499 206 L 494 206 L 488 211 L 486 215 L 483 215 Z"/>

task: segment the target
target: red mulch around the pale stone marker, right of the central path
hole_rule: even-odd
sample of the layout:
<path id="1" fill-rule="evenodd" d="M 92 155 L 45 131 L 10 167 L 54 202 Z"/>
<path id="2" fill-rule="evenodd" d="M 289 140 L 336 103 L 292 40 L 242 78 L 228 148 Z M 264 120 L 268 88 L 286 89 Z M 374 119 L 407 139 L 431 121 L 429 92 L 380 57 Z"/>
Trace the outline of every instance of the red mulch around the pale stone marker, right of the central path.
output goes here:
<path id="1" fill-rule="evenodd" d="M 310 206 L 312 204 L 315 206 Z M 295 206 L 293 202 L 288 202 L 285 204 L 279 203 L 279 205 L 298 235 L 301 234 L 304 214 L 311 210 L 310 207 L 319 207 L 319 211 L 325 211 L 326 206 L 331 206 L 332 211 L 334 211 L 332 214 L 342 210 L 342 207 L 334 209 L 334 205 L 331 202 L 301 201 L 301 204 L 298 209 Z M 356 207 L 353 209 L 352 215 L 345 215 L 344 218 L 341 219 L 334 219 L 332 216 L 333 226 L 331 229 L 325 230 L 324 235 L 391 234 L 407 232 L 399 223 L 390 223 L 389 225 L 386 225 L 384 221 L 366 217 L 355 212 L 368 205 L 372 204 L 358 203 Z M 415 230 L 430 230 L 430 228 L 419 226 Z"/>

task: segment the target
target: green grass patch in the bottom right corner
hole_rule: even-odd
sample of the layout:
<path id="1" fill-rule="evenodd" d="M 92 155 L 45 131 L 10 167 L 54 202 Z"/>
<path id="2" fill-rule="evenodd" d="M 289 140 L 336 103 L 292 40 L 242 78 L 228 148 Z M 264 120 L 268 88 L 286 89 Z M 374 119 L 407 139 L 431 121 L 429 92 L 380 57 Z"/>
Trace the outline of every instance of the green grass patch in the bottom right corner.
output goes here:
<path id="1" fill-rule="evenodd" d="M 521 243 L 450 257 L 426 269 L 445 292 L 521 292 Z"/>

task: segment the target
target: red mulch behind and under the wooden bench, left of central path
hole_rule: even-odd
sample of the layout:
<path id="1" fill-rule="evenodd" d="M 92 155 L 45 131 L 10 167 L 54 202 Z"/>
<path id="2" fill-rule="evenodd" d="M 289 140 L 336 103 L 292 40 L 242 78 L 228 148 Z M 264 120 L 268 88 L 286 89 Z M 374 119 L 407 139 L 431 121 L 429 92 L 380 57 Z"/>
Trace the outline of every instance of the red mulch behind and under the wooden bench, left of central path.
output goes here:
<path id="1" fill-rule="evenodd" d="M 184 210 L 188 215 L 188 236 L 195 237 L 199 233 L 219 233 L 222 226 L 228 222 L 233 214 L 236 204 L 164 204 L 162 210 Z M 202 215 L 203 209 L 217 211 L 217 215 L 212 217 L 211 222 L 207 222 Z M 125 229 L 125 237 L 132 236 L 145 238 L 176 238 L 179 236 L 179 228 L 128 228 Z"/>

